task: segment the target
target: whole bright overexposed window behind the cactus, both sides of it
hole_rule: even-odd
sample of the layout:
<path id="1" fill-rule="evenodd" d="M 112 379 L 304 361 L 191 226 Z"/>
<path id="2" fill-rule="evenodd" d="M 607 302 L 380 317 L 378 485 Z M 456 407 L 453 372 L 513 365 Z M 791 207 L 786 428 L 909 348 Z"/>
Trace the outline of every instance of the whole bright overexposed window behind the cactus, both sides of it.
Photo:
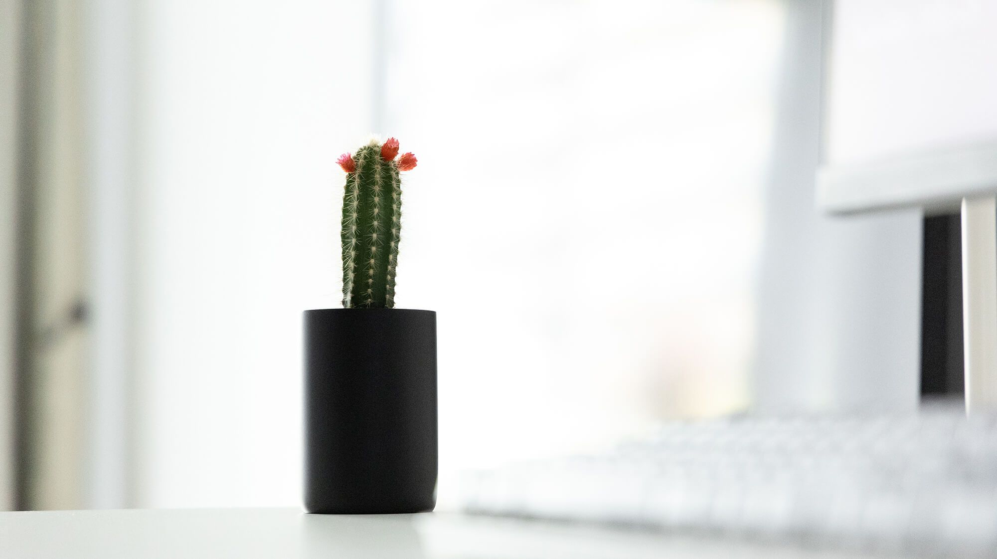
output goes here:
<path id="1" fill-rule="evenodd" d="M 420 161 L 442 500 L 747 405 L 781 3 L 149 4 L 140 504 L 299 501 L 300 311 L 338 305 L 334 160 L 377 114 Z"/>

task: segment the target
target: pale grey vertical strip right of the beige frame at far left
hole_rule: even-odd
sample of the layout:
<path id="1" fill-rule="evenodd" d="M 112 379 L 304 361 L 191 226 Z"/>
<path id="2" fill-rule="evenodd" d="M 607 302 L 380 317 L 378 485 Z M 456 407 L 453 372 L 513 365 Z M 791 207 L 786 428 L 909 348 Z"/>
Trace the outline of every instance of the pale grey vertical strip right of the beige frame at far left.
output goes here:
<path id="1" fill-rule="evenodd" d="M 90 406 L 88 508 L 136 505 L 134 394 L 137 80 L 139 10 L 130 0 L 88 0 L 81 90 L 88 164 Z"/>

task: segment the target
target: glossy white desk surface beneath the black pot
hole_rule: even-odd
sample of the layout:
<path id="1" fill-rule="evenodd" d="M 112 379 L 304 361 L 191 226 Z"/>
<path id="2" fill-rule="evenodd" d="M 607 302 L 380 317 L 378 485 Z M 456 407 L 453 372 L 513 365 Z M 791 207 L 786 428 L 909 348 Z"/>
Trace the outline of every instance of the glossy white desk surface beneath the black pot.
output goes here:
<path id="1" fill-rule="evenodd" d="M 0 512 L 0 557 L 393 559 L 844 558 L 778 544 L 452 513 L 331 516 L 296 508 Z"/>

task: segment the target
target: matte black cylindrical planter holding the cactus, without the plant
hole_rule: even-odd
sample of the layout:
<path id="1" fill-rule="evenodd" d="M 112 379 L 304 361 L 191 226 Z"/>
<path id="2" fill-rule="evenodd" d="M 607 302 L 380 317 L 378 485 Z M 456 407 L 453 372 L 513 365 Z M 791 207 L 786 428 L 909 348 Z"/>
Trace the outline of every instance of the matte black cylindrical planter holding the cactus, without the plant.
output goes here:
<path id="1" fill-rule="evenodd" d="M 305 509 L 436 506 L 436 312 L 306 310 Z"/>

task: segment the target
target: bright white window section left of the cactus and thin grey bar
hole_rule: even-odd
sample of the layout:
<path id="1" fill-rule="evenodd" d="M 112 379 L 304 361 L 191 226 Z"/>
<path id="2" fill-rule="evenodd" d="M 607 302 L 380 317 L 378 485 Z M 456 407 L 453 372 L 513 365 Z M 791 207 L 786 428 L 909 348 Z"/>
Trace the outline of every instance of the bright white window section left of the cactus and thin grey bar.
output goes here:
<path id="1" fill-rule="evenodd" d="M 300 314 L 339 301 L 370 25 L 363 2 L 147 2 L 140 505 L 299 502 Z"/>

